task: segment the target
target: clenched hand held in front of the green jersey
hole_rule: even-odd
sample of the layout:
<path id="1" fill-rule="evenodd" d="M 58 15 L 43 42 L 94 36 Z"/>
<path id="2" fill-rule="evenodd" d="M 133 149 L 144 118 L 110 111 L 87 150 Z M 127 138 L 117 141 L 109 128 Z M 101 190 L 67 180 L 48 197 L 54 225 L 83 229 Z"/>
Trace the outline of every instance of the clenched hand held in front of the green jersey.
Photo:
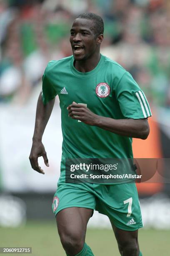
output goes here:
<path id="1" fill-rule="evenodd" d="M 68 116 L 72 119 L 77 119 L 88 125 L 96 125 L 99 115 L 94 114 L 89 108 L 79 105 L 76 102 L 72 102 L 67 107 Z"/>

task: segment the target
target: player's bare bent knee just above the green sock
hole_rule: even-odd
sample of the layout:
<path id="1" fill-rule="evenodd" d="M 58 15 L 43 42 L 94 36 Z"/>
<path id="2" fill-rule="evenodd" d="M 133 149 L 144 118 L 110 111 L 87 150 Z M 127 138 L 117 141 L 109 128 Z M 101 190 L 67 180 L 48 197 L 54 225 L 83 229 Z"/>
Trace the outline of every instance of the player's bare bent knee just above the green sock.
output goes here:
<path id="1" fill-rule="evenodd" d="M 85 241 L 79 233 L 61 233 L 60 240 L 65 251 L 69 252 L 72 249 L 80 251 Z"/>

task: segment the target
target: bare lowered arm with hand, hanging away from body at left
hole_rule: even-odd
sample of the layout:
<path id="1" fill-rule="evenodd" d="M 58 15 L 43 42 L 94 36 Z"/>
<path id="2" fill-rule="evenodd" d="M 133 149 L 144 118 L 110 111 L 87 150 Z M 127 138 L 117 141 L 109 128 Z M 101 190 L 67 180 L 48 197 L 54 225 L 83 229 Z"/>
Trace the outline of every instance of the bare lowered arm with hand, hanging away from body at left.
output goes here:
<path id="1" fill-rule="evenodd" d="M 42 156 L 46 166 L 49 166 L 47 154 L 42 144 L 42 135 L 45 131 L 45 127 L 50 118 L 53 106 L 54 106 L 55 98 L 47 102 L 46 105 L 42 102 L 41 93 L 37 102 L 37 110 L 36 110 L 36 118 L 35 118 L 35 129 L 34 135 L 32 138 L 32 148 L 30 152 L 30 163 L 32 169 L 42 174 L 45 174 L 41 167 L 38 165 L 38 157 Z"/>

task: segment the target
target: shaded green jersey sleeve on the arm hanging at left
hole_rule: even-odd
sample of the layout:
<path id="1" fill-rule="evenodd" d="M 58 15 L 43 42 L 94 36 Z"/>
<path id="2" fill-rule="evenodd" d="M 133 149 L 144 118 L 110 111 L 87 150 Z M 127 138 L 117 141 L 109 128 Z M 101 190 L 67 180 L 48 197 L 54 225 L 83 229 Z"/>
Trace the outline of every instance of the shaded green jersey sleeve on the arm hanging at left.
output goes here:
<path id="1" fill-rule="evenodd" d="M 42 102 L 44 105 L 46 105 L 50 100 L 53 100 L 57 95 L 57 92 L 55 91 L 52 83 L 50 82 L 50 79 L 48 78 L 49 75 L 47 72 L 47 67 L 42 76 Z"/>

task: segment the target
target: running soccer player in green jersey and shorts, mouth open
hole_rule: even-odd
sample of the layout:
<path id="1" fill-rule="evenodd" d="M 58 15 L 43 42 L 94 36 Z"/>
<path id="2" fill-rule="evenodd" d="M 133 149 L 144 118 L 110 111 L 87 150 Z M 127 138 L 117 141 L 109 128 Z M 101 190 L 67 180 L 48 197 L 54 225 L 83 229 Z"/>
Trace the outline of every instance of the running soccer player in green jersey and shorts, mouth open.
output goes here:
<path id="1" fill-rule="evenodd" d="M 58 95 L 63 143 L 52 209 L 66 255 L 94 255 L 85 243 L 85 234 L 96 209 L 109 217 L 120 254 L 141 256 L 138 229 L 143 223 L 135 183 L 65 182 L 68 158 L 133 159 L 132 138 L 146 139 L 149 134 L 147 99 L 124 68 L 100 54 L 103 31 L 100 16 L 79 15 L 70 31 L 73 55 L 48 63 L 37 102 L 30 163 L 41 174 L 38 157 L 43 156 L 49 166 L 42 135 Z"/>

